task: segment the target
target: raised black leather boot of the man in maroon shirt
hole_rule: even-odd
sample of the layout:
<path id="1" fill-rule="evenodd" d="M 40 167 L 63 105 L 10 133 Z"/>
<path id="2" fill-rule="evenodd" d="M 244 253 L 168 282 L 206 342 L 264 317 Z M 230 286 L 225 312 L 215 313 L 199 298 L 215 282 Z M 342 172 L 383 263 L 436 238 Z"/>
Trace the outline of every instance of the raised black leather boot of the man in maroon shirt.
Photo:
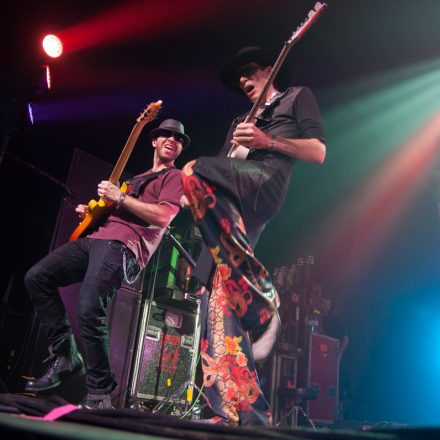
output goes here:
<path id="1" fill-rule="evenodd" d="M 78 352 L 73 336 L 63 341 L 55 350 L 49 348 L 51 355 L 47 359 L 49 367 L 43 376 L 26 382 L 26 391 L 44 391 L 55 388 L 69 377 L 82 376 L 86 373 L 84 361 Z"/>

